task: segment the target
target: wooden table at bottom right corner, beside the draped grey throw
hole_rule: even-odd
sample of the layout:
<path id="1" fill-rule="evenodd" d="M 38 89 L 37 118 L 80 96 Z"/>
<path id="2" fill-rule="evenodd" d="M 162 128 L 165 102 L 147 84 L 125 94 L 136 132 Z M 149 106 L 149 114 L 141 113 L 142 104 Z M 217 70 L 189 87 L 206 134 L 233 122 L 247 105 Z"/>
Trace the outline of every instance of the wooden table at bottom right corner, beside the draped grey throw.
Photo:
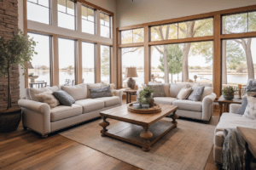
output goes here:
<path id="1" fill-rule="evenodd" d="M 251 170 L 251 161 L 256 158 L 256 129 L 236 127 L 238 133 L 246 141 L 244 151 L 244 169 Z"/>

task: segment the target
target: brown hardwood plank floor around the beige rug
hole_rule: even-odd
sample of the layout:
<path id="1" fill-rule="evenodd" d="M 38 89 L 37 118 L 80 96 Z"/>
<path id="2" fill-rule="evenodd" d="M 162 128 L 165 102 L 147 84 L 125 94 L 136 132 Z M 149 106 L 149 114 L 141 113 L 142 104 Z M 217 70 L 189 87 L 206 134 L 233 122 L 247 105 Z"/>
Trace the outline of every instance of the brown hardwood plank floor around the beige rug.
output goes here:
<path id="1" fill-rule="evenodd" d="M 213 116 L 218 116 L 218 111 L 214 111 Z M 210 124 L 218 123 L 214 120 L 212 119 Z M 218 169 L 214 164 L 212 152 L 205 170 Z M 139 168 L 57 133 L 42 139 L 38 133 L 23 130 L 20 124 L 17 131 L 0 134 L 0 169 L 137 170 Z"/>

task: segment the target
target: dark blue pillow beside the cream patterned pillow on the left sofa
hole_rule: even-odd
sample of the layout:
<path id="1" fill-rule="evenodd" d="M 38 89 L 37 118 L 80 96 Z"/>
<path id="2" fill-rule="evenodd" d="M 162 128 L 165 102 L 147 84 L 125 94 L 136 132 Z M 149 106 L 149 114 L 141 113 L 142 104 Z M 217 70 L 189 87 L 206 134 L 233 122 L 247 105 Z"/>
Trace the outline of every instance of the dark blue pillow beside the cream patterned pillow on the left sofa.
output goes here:
<path id="1" fill-rule="evenodd" d="M 67 94 L 67 92 L 65 92 L 64 90 L 59 90 L 52 94 L 55 96 L 56 99 L 59 100 L 61 105 L 71 106 L 76 102 L 76 100 L 73 99 L 73 97 L 70 94 Z"/>

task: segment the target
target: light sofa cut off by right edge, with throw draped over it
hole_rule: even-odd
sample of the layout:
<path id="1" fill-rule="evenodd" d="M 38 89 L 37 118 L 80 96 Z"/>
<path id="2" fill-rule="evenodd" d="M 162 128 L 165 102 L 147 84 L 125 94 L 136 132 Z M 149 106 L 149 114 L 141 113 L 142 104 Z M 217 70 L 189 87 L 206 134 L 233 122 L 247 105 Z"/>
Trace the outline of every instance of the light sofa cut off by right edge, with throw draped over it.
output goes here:
<path id="1" fill-rule="evenodd" d="M 241 115 L 235 114 L 241 105 L 231 104 L 230 113 L 223 113 L 220 117 L 214 132 L 214 150 L 213 157 L 217 164 L 222 164 L 221 155 L 224 143 L 224 129 L 236 127 L 256 128 L 256 121 Z"/>

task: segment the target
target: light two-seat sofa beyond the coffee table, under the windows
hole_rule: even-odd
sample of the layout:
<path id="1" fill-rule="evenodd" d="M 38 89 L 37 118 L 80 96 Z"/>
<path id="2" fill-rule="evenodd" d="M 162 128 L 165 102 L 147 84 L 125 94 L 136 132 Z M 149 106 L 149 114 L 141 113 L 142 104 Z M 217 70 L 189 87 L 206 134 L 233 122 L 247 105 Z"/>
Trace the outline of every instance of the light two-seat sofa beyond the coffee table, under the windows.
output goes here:
<path id="1" fill-rule="evenodd" d="M 212 87 L 212 84 L 210 83 L 163 83 L 165 97 L 154 97 L 154 102 L 158 104 L 177 105 L 178 109 L 176 114 L 178 116 L 209 122 L 212 117 L 213 101 L 216 99 L 216 94 L 209 94 L 200 101 L 177 99 L 177 94 L 182 88 L 190 88 L 201 85 L 204 85 L 205 87 Z M 140 90 L 137 91 L 137 96 L 139 96 L 139 92 Z"/>

